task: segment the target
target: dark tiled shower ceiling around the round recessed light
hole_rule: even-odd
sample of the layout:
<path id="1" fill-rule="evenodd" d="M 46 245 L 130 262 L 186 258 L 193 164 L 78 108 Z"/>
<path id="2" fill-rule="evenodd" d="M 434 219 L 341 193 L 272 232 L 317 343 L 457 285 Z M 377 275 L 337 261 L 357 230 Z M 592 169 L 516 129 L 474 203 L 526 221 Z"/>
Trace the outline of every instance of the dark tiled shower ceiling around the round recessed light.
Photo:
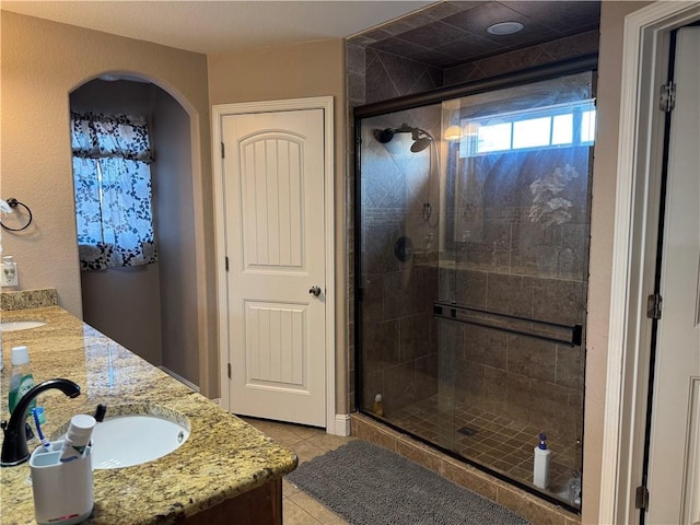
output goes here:
<path id="1" fill-rule="evenodd" d="M 363 32 L 351 38 L 441 68 L 596 30 L 599 1 L 451 1 Z M 494 36 L 486 28 L 520 22 L 523 31 Z"/>

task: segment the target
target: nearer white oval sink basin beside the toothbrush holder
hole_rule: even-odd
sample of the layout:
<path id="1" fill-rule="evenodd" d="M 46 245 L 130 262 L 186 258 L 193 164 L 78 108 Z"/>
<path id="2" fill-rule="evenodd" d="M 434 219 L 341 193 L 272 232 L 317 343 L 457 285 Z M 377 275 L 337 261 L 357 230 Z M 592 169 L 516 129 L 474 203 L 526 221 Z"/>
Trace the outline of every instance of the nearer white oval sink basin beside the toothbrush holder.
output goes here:
<path id="1" fill-rule="evenodd" d="M 124 411 L 125 407 L 114 409 L 118 412 Z M 124 468 L 153 462 L 177 450 L 189 438 L 187 418 L 163 407 L 145 406 L 139 411 L 147 413 L 113 417 L 109 417 L 109 411 L 108 408 L 107 418 L 97 423 L 92 432 L 94 469 Z"/>

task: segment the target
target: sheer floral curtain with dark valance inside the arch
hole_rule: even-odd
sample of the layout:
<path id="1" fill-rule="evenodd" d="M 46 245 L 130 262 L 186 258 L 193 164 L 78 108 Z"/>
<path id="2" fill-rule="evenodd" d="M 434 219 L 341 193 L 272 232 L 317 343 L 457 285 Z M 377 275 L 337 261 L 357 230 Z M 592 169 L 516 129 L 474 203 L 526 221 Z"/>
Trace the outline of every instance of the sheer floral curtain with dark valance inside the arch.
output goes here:
<path id="1" fill-rule="evenodd" d="M 81 269 L 158 260 L 144 117 L 71 112 Z"/>

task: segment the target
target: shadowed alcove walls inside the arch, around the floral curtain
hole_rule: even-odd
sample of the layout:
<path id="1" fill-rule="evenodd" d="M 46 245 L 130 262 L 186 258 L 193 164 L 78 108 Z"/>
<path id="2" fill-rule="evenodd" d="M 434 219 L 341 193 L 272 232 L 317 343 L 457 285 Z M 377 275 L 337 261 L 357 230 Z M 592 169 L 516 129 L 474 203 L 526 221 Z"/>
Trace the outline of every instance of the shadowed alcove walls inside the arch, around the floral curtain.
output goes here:
<path id="1" fill-rule="evenodd" d="M 70 109 L 140 115 L 154 162 L 152 213 L 156 262 L 80 272 L 83 320 L 198 389 L 199 326 L 195 218 L 197 162 L 190 112 L 138 73 L 108 72 L 77 86 Z"/>

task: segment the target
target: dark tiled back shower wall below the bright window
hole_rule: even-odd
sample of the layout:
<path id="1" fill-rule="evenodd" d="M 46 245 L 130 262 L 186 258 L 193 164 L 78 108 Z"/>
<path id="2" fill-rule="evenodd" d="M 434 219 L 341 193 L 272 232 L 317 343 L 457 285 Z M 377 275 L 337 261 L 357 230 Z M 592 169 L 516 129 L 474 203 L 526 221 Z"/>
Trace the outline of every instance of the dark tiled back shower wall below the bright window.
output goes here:
<path id="1" fill-rule="evenodd" d="M 475 178 L 483 188 L 469 190 L 482 196 L 470 200 L 480 208 L 476 214 L 481 220 L 470 223 L 466 241 L 455 243 L 454 260 L 443 259 L 440 299 L 527 319 L 584 325 L 588 164 L 588 148 L 579 147 L 488 155 L 471 159 L 468 168 L 462 165 L 458 176 L 480 173 Z M 563 186 L 557 198 L 571 203 L 567 215 L 534 213 L 538 186 L 533 183 L 552 176 Z M 450 320 L 440 322 L 438 341 L 441 361 L 451 362 L 445 370 L 455 371 L 446 376 L 454 376 L 454 392 L 445 389 L 455 404 L 540 428 L 568 446 L 581 439 L 585 346 Z"/>

